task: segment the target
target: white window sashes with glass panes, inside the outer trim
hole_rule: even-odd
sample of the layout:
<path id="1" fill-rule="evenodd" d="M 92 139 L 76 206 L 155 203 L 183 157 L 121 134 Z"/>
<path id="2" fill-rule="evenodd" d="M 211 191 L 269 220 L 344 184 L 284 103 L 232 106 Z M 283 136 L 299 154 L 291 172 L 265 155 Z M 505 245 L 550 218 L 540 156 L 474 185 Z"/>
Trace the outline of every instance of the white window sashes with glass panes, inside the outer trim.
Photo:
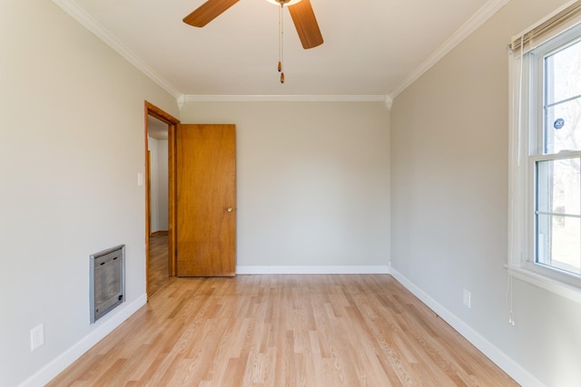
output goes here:
<path id="1" fill-rule="evenodd" d="M 534 91 L 530 111 L 540 115 L 529 125 L 531 201 L 535 263 L 580 276 L 581 30 L 572 33 L 527 54 Z"/>

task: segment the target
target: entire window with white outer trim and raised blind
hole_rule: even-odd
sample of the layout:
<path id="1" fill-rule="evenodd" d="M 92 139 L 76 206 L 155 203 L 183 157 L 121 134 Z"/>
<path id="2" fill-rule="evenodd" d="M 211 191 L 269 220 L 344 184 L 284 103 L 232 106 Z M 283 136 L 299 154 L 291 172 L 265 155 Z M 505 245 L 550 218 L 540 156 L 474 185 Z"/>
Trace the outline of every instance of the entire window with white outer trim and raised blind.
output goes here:
<path id="1" fill-rule="evenodd" d="M 511 44 L 511 269 L 581 300 L 581 5 Z"/>

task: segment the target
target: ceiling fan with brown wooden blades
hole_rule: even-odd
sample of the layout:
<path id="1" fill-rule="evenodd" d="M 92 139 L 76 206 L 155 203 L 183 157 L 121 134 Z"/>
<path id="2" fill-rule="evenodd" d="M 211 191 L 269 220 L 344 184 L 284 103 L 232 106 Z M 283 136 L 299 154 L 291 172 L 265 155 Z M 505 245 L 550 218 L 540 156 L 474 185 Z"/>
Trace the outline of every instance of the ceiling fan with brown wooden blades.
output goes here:
<path id="1" fill-rule="evenodd" d="M 203 27 L 226 11 L 239 0 L 208 0 L 192 14 L 183 18 L 183 22 L 194 27 Z M 291 13 L 292 22 L 299 34 L 304 49 L 317 47 L 323 43 L 319 24 L 310 5 L 310 0 L 268 0 L 271 3 L 286 6 Z"/>

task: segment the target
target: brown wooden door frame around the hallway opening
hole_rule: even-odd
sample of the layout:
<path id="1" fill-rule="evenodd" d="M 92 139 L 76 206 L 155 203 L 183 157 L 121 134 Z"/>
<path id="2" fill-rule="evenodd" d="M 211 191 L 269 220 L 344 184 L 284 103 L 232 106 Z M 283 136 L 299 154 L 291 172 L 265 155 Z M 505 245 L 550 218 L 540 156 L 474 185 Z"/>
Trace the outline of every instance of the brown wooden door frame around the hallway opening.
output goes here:
<path id="1" fill-rule="evenodd" d="M 168 131 L 168 276 L 176 276 L 177 267 L 175 265 L 175 127 L 180 123 L 180 120 L 173 117 L 171 114 L 162 111 L 157 106 L 150 102 L 144 102 L 144 138 L 145 138 L 145 150 L 144 157 L 145 162 L 149 163 L 149 138 L 148 138 L 148 124 L 147 117 L 152 116 L 153 118 L 162 121 L 167 124 Z M 146 292 L 149 288 L 149 245 L 150 245 L 150 230 L 151 230 L 151 203 L 150 203 L 150 185 L 151 180 L 150 169 L 145 168 L 145 181 L 148 182 L 145 189 L 145 289 Z M 149 295 L 148 295 L 149 297 Z"/>

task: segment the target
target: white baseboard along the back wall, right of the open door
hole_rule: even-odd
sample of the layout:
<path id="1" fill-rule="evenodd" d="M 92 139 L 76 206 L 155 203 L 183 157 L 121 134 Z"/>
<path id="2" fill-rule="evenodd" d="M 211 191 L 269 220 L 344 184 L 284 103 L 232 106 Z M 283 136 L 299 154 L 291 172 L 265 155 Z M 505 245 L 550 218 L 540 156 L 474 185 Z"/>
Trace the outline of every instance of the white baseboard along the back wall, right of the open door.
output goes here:
<path id="1" fill-rule="evenodd" d="M 236 266 L 236 274 L 389 274 L 389 266 Z"/>

